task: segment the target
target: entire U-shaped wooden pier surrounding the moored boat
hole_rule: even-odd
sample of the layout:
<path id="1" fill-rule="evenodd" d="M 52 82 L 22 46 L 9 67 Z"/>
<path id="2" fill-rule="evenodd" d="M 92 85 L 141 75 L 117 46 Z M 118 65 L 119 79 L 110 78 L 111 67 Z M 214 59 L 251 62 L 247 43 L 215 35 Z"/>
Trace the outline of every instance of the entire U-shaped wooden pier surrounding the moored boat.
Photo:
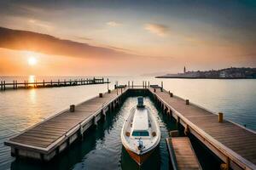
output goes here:
<path id="1" fill-rule="evenodd" d="M 49 161 L 65 150 L 88 127 L 115 105 L 125 100 L 125 94 L 137 91 L 148 94 L 163 112 L 177 120 L 184 133 L 192 134 L 224 162 L 223 167 L 232 169 L 256 169 L 256 133 L 234 122 L 221 119 L 211 111 L 195 105 L 189 99 L 181 99 L 166 91 L 161 84 L 151 86 L 119 86 L 106 94 L 71 106 L 70 110 L 50 117 L 5 142 L 11 146 L 13 156 L 25 156 Z"/>

